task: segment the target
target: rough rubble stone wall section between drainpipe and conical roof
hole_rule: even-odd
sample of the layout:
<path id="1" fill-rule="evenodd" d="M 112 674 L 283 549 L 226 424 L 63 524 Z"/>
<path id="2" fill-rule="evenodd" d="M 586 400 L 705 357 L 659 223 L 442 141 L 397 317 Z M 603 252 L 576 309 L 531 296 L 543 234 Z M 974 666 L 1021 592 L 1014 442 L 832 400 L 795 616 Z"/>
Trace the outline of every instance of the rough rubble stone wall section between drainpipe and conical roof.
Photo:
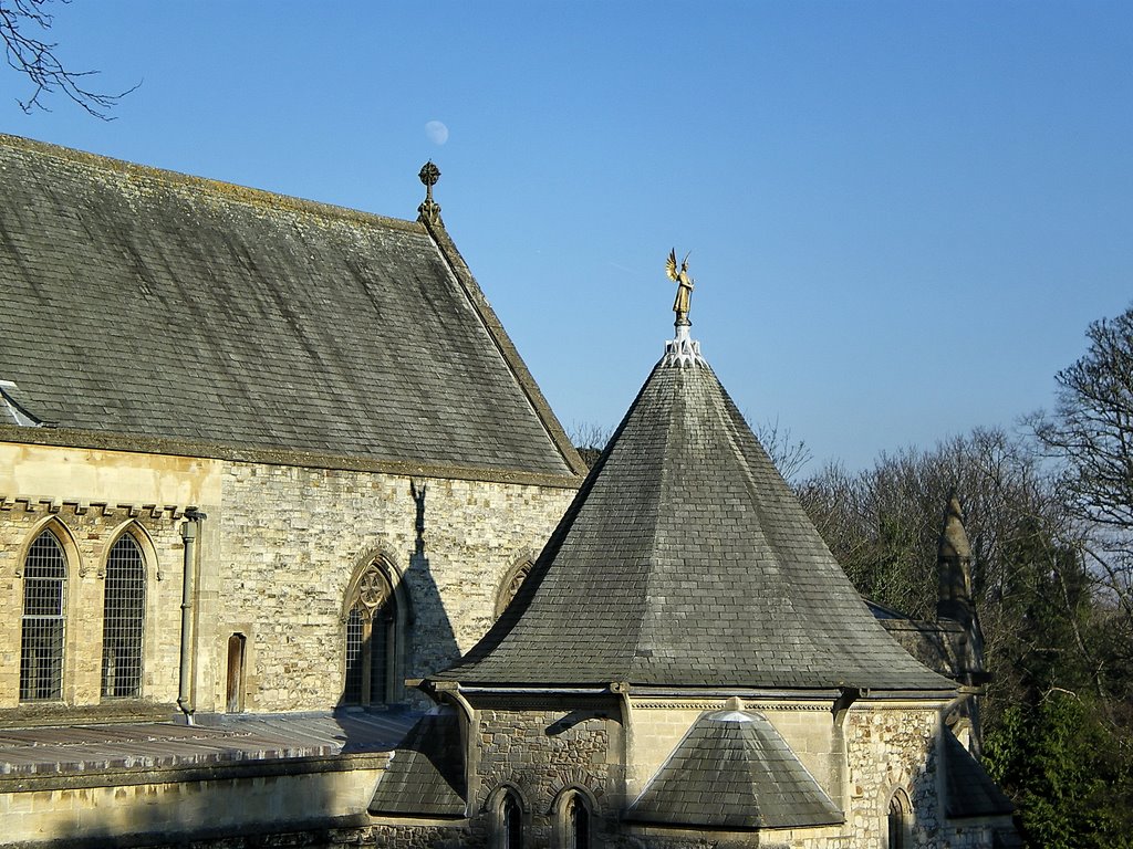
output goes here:
<path id="1" fill-rule="evenodd" d="M 203 529 L 202 557 L 215 565 L 203 563 L 202 590 L 215 609 L 202 615 L 216 623 L 204 653 L 221 661 L 230 634 L 248 638 L 248 710 L 335 704 L 347 589 L 381 557 L 408 606 L 403 677 L 423 678 L 487 632 L 506 573 L 539 551 L 572 497 L 552 487 L 230 464 L 223 508 Z M 221 705 L 225 672 L 210 678 L 211 704 Z"/>

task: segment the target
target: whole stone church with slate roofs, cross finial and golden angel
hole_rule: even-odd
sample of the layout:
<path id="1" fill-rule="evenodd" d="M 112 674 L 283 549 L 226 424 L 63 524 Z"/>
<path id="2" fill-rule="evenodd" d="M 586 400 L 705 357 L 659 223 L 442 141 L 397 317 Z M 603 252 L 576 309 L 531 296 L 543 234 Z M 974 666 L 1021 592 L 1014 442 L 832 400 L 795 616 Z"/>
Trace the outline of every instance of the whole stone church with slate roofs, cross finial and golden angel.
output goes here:
<path id="1" fill-rule="evenodd" d="M 404 221 L 0 137 L 0 843 L 1017 844 L 962 526 L 929 669 L 675 254 L 587 473 L 438 175 Z"/>

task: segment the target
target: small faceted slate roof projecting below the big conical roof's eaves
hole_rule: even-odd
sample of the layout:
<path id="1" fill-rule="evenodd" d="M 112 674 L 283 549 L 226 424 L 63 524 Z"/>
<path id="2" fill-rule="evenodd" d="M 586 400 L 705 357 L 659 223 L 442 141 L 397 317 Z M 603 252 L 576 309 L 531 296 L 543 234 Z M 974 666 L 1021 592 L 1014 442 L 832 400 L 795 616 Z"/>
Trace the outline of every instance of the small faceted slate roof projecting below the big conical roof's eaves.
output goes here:
<path id="1" fill-rule="evenodd" d="M 627 818 L 716 829 L 843 822 L 791 747 L 761 714 L 701 714 Z"/>

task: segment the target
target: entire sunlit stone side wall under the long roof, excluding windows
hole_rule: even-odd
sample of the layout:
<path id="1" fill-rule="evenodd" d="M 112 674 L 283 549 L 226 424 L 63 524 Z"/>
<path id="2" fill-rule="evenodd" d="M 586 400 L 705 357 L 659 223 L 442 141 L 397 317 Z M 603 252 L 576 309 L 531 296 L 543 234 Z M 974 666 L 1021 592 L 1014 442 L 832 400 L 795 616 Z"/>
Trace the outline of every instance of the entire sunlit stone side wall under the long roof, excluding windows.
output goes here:
<path id="1" fill-rule="evenodd" d="M 537 555 L 572 487 L 0 443 L 0 710 L 19 704 L 20 572 L 48 524 L 69 568 L 60 717 L 105 701 L 100 571 L 125 530 L 146 559 L 143 700 L 174 703 L 190 506 L 207 516 L 193 608 L 196 710 L 225 710 L 233 634 L 245 638 L 245 710 L 326 710 L 342 695 L 346 592 L 359 569 L 387 564 L 404 615 L 394 678 L 424 677 L 486 633 L 501 584 Z"/>

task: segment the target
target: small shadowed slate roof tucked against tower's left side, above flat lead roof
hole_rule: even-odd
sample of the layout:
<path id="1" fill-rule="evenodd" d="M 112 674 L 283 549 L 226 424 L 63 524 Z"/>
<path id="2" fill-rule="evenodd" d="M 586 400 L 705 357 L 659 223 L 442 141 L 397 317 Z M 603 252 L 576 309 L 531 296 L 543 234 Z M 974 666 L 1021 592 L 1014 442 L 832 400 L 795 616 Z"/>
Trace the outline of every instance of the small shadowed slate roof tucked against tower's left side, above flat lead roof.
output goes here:
<path id="1" fill-rule="evenodd" d="M 460 726 L 452 709 L 421 717 L 382 773 L 369 813 L 463 816 L 461 751 Z"/>

